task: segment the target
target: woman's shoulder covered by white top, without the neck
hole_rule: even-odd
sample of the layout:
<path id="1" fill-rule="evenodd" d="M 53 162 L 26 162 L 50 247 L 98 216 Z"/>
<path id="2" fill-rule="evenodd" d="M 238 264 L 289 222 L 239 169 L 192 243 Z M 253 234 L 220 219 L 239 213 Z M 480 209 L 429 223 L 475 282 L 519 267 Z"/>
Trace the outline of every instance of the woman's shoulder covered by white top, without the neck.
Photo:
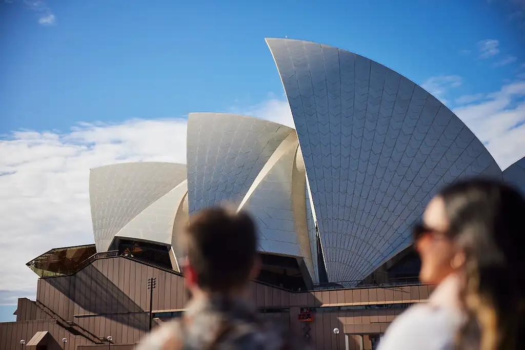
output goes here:
<path id="1" fill-rule="evenodd" d="M 380 350 L 449 349 L 460 315 L 445 307 L 418 304 L 397 316 L 380 341 Z"/>

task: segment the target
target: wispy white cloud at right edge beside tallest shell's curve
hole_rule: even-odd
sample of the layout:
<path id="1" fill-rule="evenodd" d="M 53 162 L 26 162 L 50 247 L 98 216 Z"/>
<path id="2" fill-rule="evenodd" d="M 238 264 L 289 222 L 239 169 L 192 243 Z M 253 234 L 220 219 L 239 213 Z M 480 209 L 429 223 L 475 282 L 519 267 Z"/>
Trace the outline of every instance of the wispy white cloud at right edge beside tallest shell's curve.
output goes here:
<path id="1" fill-rule="evenodd" d="M 454 112 L 505 169 L 525 156 L 525 81 L 509 83 L 481 99 Z"/>

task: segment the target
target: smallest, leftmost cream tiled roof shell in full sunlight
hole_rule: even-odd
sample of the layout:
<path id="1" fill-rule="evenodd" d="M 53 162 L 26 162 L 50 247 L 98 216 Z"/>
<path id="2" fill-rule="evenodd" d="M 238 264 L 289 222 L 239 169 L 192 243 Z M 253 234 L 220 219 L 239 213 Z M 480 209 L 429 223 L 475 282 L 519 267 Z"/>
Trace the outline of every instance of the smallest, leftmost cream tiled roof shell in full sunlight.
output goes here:
<path id="1" fill-rule="evenodd" d="M 89 199 L 97 251 L 115 237 L 172 244 L 177 208 L 187 192 L 186 166 L 121 163 L 91 169 Z"/>

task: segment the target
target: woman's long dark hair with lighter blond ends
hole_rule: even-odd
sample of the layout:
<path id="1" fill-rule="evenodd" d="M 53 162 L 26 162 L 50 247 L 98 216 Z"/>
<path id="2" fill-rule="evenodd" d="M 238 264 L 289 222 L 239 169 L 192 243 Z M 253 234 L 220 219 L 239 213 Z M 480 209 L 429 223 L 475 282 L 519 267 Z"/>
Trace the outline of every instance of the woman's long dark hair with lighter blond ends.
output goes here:
<path id="1" fill-rule="evenodd" d="M 514 350 L 525 334 L 525 199 L 514 188 L 488 179 L 446 187 L 449 236 L 465 252 L 461 291 L 467 320 L 457 334 L 464 349 Z"/>

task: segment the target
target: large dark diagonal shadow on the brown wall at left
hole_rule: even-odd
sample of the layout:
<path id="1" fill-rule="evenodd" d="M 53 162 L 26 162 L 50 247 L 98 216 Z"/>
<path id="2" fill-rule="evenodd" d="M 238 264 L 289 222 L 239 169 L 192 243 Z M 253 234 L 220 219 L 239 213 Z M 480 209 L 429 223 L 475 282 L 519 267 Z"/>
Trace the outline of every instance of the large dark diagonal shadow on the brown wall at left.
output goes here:
<path id="1" fill-rule="evenodd" d="M 148 323 L 141 316 L 144 310 L 93 265 L 74 276 L 50 278 L 46 281 L 88 313 L 122 313 L 118 322 L 141 331 L 149 329 Z M 114 319 L 113 316 L 115 315 L 112 315 Z"/>

